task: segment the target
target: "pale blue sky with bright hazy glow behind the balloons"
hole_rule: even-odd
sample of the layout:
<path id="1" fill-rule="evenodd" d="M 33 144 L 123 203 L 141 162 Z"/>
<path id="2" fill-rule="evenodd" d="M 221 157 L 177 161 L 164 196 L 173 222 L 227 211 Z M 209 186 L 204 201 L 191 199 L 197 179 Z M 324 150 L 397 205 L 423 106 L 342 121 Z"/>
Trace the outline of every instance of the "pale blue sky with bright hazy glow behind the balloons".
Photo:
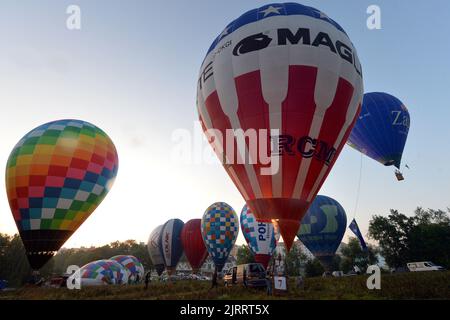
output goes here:
<path id="1" fill-rule="evenodd" d="M 356 216 L 363 234 L 373 215 L 387 215 L 391 208 L 412 215 L 417 206 L 450 207 L 450 2 L 301 3 L 320 9 L 346 30 L 358 50 L 365 92 L 389 92 L 411 115 L 403 154 L 410 167 L 406 180 L 398 182 L 392 168 L 361 159 L 346 146 L 319 194 L 338 200 L 348 223 Z M 80 30 L 66 27 L 72 4 L 81 9 Z M 96 124 L 119 153 L 112 190 L 66 247 L 146 242 L 166 220 L 201 218 L 216 201 L 240 212 L 244 200 L 218 161 L 196 161 L 194 155 L 192 161 L 176 159 L 175 138 L 188 132 L 193 140 L 202 139 L 195 98 L 206 51 L 230 21 L 264 4 L 1 1 L 0 164 L 6 164 L 25 133 L 63 118 Z M 372 4 L 381 9 L 380 30 L 366 26 Z M 208 154 L 209 146 L 199 141 Z M 0 232 L 17 232 L 6 192 L 0 193 Z M 244 243 L 242 234 L 238 243 Z"/>

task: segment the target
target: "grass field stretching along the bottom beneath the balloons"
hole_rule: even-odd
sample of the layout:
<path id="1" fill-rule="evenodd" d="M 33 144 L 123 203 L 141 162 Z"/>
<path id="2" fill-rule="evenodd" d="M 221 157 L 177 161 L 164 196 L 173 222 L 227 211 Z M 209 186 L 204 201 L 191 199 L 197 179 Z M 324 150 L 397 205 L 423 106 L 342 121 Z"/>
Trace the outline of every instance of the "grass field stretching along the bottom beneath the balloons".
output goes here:
<path id="1" fill-rule="evenodd" d="M 209 282 L 152 282 L 143 285 L 65 288 L 22 288 L 0 292 L 0 299 L 450 299 L 450 271 L 387 274 L 381 276 L 381 290 L 369 290 L 366 275 L 345 278 L 307 278 L 298 289 L 294 280 L 288 293 L 268 296 L 265 290 L 240 286 L 210 289 Z"/>

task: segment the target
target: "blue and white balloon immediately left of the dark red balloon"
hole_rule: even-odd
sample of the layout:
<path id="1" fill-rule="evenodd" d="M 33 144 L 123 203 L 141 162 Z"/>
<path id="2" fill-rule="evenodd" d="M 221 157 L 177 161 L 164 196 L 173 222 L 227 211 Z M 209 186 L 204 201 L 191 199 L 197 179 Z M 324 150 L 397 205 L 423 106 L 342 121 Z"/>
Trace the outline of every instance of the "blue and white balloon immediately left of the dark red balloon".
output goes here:
<path id="1" fill-rule="evenodd" d="M 181 244 L 183 225 L 184 223 L 180 219 L 170 219 L 161 229 L 161 255 L 169 275 L 175 273 L 178 261 L 183 255 L 183 245 Z"/>

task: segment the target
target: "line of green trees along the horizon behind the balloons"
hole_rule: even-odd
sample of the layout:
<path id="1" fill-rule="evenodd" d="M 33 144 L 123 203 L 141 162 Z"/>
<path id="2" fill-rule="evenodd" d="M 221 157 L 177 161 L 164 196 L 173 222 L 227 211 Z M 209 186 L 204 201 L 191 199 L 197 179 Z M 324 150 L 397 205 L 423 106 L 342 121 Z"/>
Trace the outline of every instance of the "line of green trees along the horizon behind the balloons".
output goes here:
<path id="1" fill-rule="evenodd" d="M 391 210 L 387 216 L 375 215 L 369 222 L 368 238 L 378 246 L 368 246 L 363 251 L 357 238 L 349 238 L 342 244 L 334 259 L 334 270 L 347 273 L 354 266 L 366 270 L 368 265 L 377 263 L 381 255 L 390 268 L 406 267 L 411 261 L 432 261 L 450 268 L 450 209 L 433 210 L 417 208 L 413 216 L 406 216 Z M 62 248 L 41 270 L 41 275 L 50 277 L 66 272 L 69 265 L 84 264 L 107 259 L 114 255 L 130 254 L 137 257 L 146 270 L 153 265 L 146 244 L 135 240 L 115 241 L 100 247 Z M 183 256 L 181 261 L 186 261 Z M 240 246 L 237 263 L 253 262 L 248 246 Z M 306 276 L 319 276 L 324 272 L 317 259 L 309 259 L 299 246 L 293 246 L 285 258 L 286 271 L 297 276 L 303 271 Z M 7 280 L 9 286 L 25 284 L 32 270 L 28 264 L 25 248 L 18 234 L 0 234 L 0 280 Z"/>

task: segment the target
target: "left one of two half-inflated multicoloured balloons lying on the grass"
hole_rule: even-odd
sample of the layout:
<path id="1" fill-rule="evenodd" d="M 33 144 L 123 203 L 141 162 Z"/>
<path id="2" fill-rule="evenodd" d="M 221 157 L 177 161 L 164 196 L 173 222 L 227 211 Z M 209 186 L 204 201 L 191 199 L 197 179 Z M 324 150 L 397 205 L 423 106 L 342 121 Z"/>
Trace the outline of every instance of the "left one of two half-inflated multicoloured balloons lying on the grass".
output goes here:
<path id="1" fill-rule="evenodd" d="M 97 260 L 80 268 L 81 286 L 127 284 L 128 271 L 117 261 Z"/>

